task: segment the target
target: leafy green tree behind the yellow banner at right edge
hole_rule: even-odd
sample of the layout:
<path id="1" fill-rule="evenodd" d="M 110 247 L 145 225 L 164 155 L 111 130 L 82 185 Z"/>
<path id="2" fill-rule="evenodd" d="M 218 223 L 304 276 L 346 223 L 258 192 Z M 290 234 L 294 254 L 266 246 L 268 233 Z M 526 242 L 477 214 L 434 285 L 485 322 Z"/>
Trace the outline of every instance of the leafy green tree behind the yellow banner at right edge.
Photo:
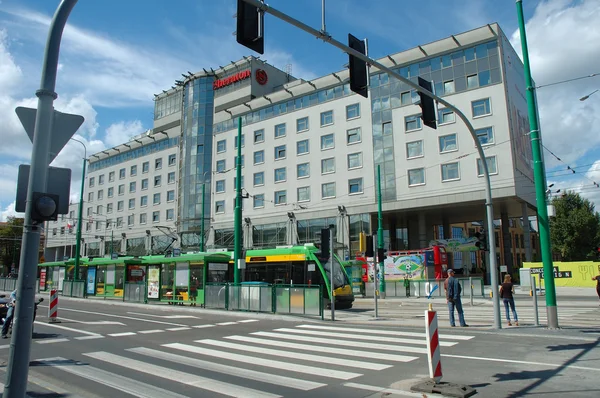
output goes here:
<path id="1" fill-rule="evenodd" d="M 567 192 L 552 199 L 556 217 L 550 220 L 552 248 L 565 261 L 595 259 L 600 244 L 600 214 L 578 193 Z"/>

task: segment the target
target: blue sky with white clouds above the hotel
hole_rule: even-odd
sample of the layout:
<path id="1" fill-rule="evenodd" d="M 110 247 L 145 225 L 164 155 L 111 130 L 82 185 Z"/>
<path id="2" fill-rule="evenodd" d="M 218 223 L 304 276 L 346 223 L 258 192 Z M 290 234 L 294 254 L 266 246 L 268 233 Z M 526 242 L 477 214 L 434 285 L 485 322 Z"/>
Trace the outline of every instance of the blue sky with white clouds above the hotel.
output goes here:
<path id="1" fill-rule="evenodd" d="M 321 0 L 268 4 L 316 29 Z M 0 0 L 0 221 L 15 215 L 19 164 L 31 142 L 15 107 L 37 108 L 44 47 L 58 0 Z M 369 39 L 381 57 L 497 22 L 521 54 L 514 0 L 326 0 L 326 30 Z M 547 180 L 553 194 L 574 190 L 600 208 L 600 1 L 523 0 L 537 89 Z M 152 127 L 153 97 L 182 73 L 216 68 L 252 52 L 237 44 L 235 0 L 79 1 L 63 34 L 56 84 L 58 111 L 85 122 L 74 138 L 87 155 Z M 257 54 L 253 54 L 257 55 Z M 347 55 L 273 16 L 265 17 L 270 64 L 304 79 L 339 71 Z M 569 79 L 598 74 L 568 83 Z M 546 86 L 549 85 L 549 86 Z M 52 163 L 72 169 L 78 200 L 83 146 L 70 141 Z M 575 171 L 573 173 L 573 171 Z"/>

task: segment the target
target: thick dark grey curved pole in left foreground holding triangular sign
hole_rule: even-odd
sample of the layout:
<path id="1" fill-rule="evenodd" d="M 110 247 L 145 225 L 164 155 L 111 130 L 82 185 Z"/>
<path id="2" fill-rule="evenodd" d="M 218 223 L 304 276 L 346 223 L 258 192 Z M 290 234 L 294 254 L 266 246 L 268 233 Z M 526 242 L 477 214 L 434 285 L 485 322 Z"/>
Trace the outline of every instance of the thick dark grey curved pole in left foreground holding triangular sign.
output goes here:
<path id="1" fill-rule="evenodd" d="M 5 398 L 22 398 L 27 391 L 41 228 L 41 224 L 34 223 L 32 220 L 33 197 L 35 192 L 46 191 L 50 141 L 54 121 L 54 100 L 58 97 L 54 90 L 56 88 L 60 41 L 67 18 L 76 3 L 77 0 L 63 0 L 54 14 L 48 41 L 46 42 L 40 89 L 35 93 L 38 97 L 38 107 L 33 130 L 33 149 L 31 151 L 31 167 L 23 223 L 17 305 L 13 320 L 4 393 L 2 394 Z"/>

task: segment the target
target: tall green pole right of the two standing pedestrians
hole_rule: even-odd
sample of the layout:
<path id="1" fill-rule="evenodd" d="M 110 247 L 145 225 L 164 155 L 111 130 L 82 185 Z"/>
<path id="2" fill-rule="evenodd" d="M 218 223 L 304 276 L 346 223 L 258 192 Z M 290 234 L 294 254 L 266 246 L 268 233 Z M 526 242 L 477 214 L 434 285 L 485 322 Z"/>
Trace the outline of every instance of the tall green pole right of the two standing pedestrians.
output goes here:
<path id="1" fill-rule="evenodd" d="M 529 53 L 527 50 L 527 35 L 525 33 L 525 20 L 523 18 L 523 3 L 517 0 L 517 15 L 519 17 L 519 32 L 521 35 L 521 49 L 523 51 L 523 69 L 525 71 L 525 84 L 527 85 L 527 108 L 529 111 L 529 135 L 533 153 L 533 173 L 535 180 L 535 199 L 537 204 L 537 218 L 540 229 L 540 248 L 542 263 L 544 265 L 544 286 L 546 288 L 546 315 L 548 328 L 558 328 L 558 312 L 556 309 L 556 289 L 554 287 L 554 269 L 552 267 L 552 247 L 550 245 L 550 226 L 548 221 L 548 208 L 546 203 L 546 174 L 542 159 L 542 145 L 540 130 L 537 120 L 536 103 L 529 67 Z M 535 294 L 535 292 L 534 292 Z"/>

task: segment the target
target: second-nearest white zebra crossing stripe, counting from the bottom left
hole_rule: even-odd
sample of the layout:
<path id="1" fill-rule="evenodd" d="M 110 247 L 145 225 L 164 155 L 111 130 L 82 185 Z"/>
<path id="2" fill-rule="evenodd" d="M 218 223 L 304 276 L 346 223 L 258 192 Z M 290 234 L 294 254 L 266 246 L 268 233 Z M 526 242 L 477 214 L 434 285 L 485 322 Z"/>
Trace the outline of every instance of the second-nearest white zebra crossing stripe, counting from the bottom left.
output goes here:
<path id="1" fill-rule="evenodd" d="M 280 395 L 270 394 L 265 391 L 259 391 L 252 388 L 238 386 L 235 384 L 225 383 L 218 380 L 212 380 L 207 377 L 196 376 L 190 373 L 181 372 L 174 369 L 165 368 L 162 366 L 152 365 L 146 362 L 138 361 L 122 357 L 120 355 L 111 354 L 109 352 L 98 351 L 83 354 L 90 358 L 100 361 L 109 362 L 113 365 L 122 366 L 124 368 L 136 370 L 138 372 L 148 373 L 155 377 L 172 380 L 178 383 L 187 384 L 202 390 L 212 391 L 218 394 L 228 395 L 230 397 L 239 398 L 267 398 L 280 397 Z"/>

